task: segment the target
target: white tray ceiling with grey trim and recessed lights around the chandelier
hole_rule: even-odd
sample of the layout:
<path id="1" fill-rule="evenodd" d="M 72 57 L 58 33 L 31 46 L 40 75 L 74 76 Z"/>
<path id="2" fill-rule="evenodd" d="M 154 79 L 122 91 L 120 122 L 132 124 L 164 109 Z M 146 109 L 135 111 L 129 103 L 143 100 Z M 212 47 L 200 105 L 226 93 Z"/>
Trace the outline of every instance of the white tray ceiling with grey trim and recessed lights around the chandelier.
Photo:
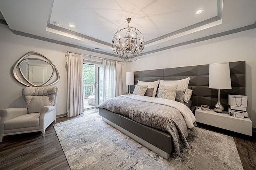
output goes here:
<path id="1" fill-rule="evenodd" d="M 128 17 L 144 35 L 146 54 L 248 25 L 252 29 L 255 9 L 255 0 L 0 0 L 0 19 L 19 35 L 114 56 L 113 35 L 128 27 Z"/>

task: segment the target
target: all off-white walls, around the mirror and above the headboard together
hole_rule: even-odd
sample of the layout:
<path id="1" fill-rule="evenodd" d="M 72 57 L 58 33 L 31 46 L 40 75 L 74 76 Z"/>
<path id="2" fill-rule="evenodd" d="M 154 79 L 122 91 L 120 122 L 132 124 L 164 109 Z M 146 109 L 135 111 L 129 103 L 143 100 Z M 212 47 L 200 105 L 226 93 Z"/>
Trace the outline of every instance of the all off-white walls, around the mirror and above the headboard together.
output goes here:
<path id="1" fill-rule="evenodd" d="M 29 51 L 36 51 L 48 57 L 60 73 L 60 81 L 56 84 L 59 87 L 57 115 L 66 113 L 67 70 L 65 51 L 117 60 L 116 57 L 14 35 L 7 25 L 0 24 L 0 109 L 26 107 L 21 97 L 21 89 L 24 86 L 12 78 L 12 66 Z M 256 76 L 252 75 L 256 73 L 256 29 L 152 53 L 142 56 L 135 62 L 125 62 L 123 63 L 123 94 L 127 91 L 127 85 L 125 85 L 126 71 L 192 66 L 225 61 L 246 61 L 248 114 L 252 119 L 253 127 L 256 127 Z"/>

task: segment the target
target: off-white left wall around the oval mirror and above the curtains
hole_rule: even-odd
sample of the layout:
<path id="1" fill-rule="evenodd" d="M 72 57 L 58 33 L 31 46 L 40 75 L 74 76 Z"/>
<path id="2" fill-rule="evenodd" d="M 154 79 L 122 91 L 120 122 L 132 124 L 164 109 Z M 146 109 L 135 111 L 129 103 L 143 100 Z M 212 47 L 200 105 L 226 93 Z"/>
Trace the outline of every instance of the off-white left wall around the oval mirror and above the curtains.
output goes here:
<path id="1" fill-rule="evenodd" d="M 57 101 L 57 115 L 66 113 L 67 102 L 67 69 L 66 69 L 66 52 L 73 51 L 87 55 L 94 55 L 106 59 L 115 59 L 108 55 L 84 51 L 64 45 L 58 45 L 15 35 L 10 31 L 7 25 L 0 24 L 0 109 L 11 107 L 26 107 L 21 90 L 24 86 L 12 78 L 12 66 L 18 59 L 29 51 L 36 51 L 46 56 L 58 69 L 60 81 L 54 86 L 59 87 Z M 121 60 L 120 60 L 121 61 Z M 124 66 L 124 75 L 126 66 Z M 125 83 L 125 80 L 124 80 Z M 123 91 L 126 91 L 125 89 Z"/>

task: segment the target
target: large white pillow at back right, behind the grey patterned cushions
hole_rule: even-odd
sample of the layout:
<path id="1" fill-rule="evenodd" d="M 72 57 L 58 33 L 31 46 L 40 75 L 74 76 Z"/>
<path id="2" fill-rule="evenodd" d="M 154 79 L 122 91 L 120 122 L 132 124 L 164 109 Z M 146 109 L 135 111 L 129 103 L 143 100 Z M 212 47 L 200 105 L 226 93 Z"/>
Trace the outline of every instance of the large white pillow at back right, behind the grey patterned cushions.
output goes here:
<path id="1" fill-rule="evenodd" d="M 174 86 L 178 85 L 177 90 L 186 89 L 186 92 L 184 94 L 184 102 L 188 103 L 188 83 L 189 83 L 190 77 L 184 78 L 181 80 L 159 80 L 159 84 L 164 86 Z"/>

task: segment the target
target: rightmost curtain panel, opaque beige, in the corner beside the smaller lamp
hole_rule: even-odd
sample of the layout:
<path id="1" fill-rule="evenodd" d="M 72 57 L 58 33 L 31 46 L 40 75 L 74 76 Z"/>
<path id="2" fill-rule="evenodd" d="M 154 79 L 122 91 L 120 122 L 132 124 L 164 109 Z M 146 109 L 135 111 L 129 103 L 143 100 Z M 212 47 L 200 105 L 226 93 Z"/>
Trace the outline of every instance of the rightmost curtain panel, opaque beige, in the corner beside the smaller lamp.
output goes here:
<path id="1" fill-rule="evenodd" d="M 123 90 L 123 69 L 122 63 L 116 61 L 116 94 L 115 96 L 122 95 Z"/>

